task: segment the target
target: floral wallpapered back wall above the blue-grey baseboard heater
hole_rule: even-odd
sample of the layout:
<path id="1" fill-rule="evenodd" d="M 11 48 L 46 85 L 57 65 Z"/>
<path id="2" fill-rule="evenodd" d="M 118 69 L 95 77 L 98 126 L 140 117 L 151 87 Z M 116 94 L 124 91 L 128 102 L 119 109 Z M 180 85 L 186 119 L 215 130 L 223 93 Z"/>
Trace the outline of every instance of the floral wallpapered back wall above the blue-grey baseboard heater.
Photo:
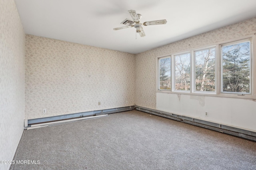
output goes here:
<path id="1" fill-rule="evenodd" d="M 26 35 L 26 119 L 134 102 L 134 54 Z"/>

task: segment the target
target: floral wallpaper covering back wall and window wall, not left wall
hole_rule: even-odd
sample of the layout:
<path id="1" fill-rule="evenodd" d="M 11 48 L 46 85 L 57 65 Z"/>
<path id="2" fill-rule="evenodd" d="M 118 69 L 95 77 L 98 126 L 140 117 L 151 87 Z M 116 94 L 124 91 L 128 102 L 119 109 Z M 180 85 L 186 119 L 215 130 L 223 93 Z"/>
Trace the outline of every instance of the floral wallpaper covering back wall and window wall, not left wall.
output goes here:
<path id="1" fill-rule="evenodd" d="M 252 18 L 137 55 L 26 35 L 26 119 L 134 104 L 156 109 L 157 56 L 255 33 L 255 23 Z"/>

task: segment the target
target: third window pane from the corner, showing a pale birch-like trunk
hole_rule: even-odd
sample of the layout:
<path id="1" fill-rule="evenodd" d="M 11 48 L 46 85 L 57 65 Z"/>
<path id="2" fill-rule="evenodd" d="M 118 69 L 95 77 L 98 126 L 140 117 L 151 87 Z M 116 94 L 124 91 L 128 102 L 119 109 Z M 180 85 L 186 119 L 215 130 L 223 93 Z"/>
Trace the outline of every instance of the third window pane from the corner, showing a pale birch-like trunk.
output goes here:
<path id="1" fill-rule="evenodd" d="M 195 51 L 196 91 L 215 91 L 215 48 Z"/>

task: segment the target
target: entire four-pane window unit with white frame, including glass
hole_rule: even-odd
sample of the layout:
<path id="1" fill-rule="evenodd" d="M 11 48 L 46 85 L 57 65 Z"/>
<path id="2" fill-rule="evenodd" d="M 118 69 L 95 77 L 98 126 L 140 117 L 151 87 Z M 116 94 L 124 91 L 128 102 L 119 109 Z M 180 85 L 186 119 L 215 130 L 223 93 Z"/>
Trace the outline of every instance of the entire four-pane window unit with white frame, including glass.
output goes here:
<path id="1" fill-rule="evenodd" d="M 255 99 L 256 84 L 252 82 L 256 72 L 256 64 L 252 63 L 253 41 L 256 41 L 256 36 L 248 35 L 232 42 L 159 57 L 158 90 Z"/>

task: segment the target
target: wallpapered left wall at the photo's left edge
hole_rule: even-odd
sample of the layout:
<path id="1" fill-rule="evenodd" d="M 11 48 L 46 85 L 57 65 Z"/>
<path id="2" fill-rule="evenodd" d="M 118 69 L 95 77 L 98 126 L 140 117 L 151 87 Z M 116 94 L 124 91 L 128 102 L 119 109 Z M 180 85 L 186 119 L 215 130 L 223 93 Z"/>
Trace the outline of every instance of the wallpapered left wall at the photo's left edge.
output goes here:
<path id="1" fill-rule="evenodd" d="M 24 128 L 25 33 L 13 0 L 0 0 L 0 160 L 12 160 Z M 0 169 L 8 169 L 0 164 Z"/>

